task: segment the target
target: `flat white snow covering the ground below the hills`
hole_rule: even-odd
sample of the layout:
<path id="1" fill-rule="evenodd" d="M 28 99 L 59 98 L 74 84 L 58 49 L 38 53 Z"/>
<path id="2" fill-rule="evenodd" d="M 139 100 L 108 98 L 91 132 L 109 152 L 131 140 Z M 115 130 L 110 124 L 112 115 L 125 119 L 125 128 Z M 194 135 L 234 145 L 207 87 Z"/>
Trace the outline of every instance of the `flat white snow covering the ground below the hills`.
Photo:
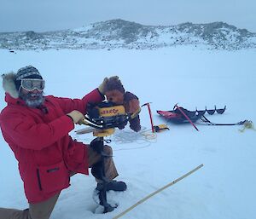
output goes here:
<path id="1" fill-rule="evenodd" d="M 46 95 L 79 98 L 101 84 L 103 78 L 119 75 L 125 89 L 141 101 L 152 102 L 154 124 L 170 130 L 150 135 L 148 111 L 143 107 L 141 123 L 147 136 L 126 127 L 109 138 L 118 180 L 124 193 L 108 193 L 119 207 L 108 214 L 99 211 L 92 199 L 93 176 L 72 177 L 63 190 L 52 219 L 113 218 L 150 193 L 174 181 L 200 164 L 194 174 L 166 188 L 121 218 L 161 219 L 252 219 L 256 213 L 256 131 L 238 131 L 241 126 L 171 124 L 156 110 L 179 106 L 189 110 L 227 106 L 224 114 L 207 116 L 215 123 L 256 121 L 256 50 L 206 50 L 179 46 L 166 49 L 96 50 L 0 50 L 1 72 L 33 65 L 46 80 Z M 3 89 L 0 107 L 5 107 Z M 84 128 L 77 126 L 75 130 Z M 73 138 L 89 143 L 90 134 Z M 148 138 L 147 138 L 148 137 Z M 130 142 L 125 142 L 125 141 Z M 27 207 L 17 162 L 0 135 L 0 206 Z"/>

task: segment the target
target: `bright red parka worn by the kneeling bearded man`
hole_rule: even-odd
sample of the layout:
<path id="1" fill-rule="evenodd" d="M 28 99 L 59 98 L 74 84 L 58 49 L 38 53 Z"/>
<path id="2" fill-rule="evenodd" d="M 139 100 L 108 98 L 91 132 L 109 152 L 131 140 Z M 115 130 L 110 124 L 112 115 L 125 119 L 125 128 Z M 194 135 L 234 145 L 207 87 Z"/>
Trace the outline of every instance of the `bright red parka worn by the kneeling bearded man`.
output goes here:
<path id="1" fill-rule="evenodd" d="M 74 124 L 68 112 L 85 114 L 88 102 L 101 102 L 98 89 L 83 99 L 46 96 L 41 108 L 26 107 L 6 93 L 7 107 L 0 115 L 3 138 L 15 153 L 29 203 L 49 199 L 69 187 L 71 171 L 88 174 L 87 149 L 68 133 Z"/>

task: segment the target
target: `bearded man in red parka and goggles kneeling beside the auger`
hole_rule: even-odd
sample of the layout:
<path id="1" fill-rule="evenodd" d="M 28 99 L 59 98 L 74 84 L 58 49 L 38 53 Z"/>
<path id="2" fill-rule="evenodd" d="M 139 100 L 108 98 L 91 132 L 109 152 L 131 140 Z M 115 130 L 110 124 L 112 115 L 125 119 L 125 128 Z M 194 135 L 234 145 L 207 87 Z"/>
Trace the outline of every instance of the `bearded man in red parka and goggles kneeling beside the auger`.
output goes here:
<path id="1" fill-rule="evenodd" d="M 15 153 L 29 208 L 0 208 L 0 219 L 48 219 L 72 173 L 89 174 L 101 156 L 89 145 L 73 141 L 68 133 L 86 114 L 86 106 L 104 99 L 105 78 L 82 99 L 44 96 L 44 79 L 33 66 L 3 75 L 7 107 L 0 114 L 4 140 Z M 111 147 L 104 151 L 112 154 Z M 118 176 L 113 159 L 105 162 L 106 176 Z M 98 186 L 101 183 L 96 179 Z M 108 190 L 125 191 L 125 182 L 110 181 Z"/>

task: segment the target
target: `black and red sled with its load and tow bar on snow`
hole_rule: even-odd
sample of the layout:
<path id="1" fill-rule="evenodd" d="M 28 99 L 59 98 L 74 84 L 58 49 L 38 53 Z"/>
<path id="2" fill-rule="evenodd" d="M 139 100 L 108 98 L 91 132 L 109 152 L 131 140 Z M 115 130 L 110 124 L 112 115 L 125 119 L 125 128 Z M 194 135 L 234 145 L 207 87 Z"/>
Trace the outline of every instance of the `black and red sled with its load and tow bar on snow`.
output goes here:
<path id="1" fill-rule="evenodd" d="M 238 123 L 234 124 L 215 124 L 212 123 L 209 119 L 205 117 L 205 113 L 207 112 L 209 115 L 213 115 L 215 112 L 218 114 L 223 114 L 226 110 L 226 106 L 224 108 L 216 108 L 208 110 L 207 107 L 205 110 L 196 110 L 195 111 L 189 111 L 183 107 L 178 107 L 177 104 L 173 107 L 172 111 L 160 111 L 158 110 L 157 112 L 160 114 L 160 116 L 163 116 L 164 118 L 167 118 L 170 122 L 174 124 L 184 124 L 184 123 L 190 123 L 194 126 L 195 130 L 198 130 L 197 127 L 195 126 L 195 122 L 197 120 L 201 120 L 204 124 L 207 125 L 241 125 L 245 124 L 248 121 L 244 120 Z"/>

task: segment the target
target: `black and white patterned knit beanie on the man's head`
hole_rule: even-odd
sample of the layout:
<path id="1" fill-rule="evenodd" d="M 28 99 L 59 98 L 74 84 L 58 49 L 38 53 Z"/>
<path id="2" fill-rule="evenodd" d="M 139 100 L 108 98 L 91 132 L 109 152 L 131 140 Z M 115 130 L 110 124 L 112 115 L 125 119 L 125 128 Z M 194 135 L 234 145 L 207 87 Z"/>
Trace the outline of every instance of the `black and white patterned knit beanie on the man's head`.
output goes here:
<path id="1" fill-rule="evenodd" d="M 43 79 L 41 74 L 38 72 L 38 69 L 35 68 L 34 66 L 22 67 L 18 70 L 15 78 L 15 86 L 17 90 L 20 89 L 21 79 L 24 79 L 24 78 Z"/>

